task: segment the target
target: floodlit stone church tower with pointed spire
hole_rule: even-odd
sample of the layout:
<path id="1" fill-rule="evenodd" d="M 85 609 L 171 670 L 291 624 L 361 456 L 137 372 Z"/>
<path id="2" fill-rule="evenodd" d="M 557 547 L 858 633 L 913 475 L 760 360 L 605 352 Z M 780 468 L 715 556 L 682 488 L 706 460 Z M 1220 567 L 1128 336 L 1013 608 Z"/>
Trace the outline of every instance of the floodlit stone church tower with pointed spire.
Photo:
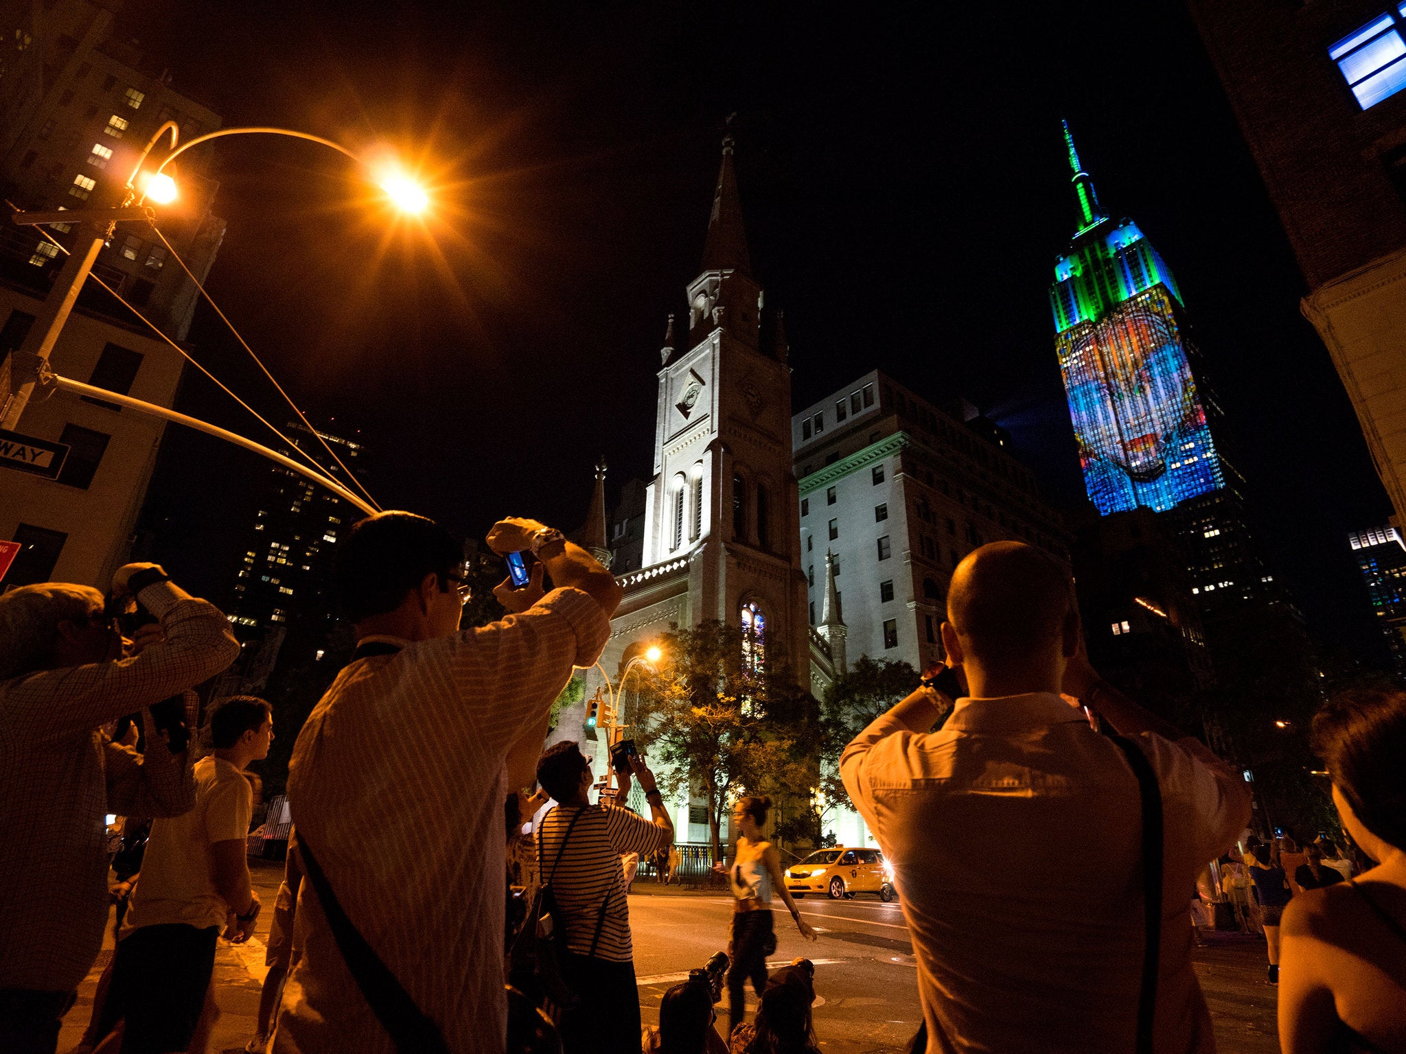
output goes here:
<path id="1" fill-rule="evenodd" d="M 616 680 L 669 623 L 717 618 L 752 628 L 768 666 L 808 687 L 790 368 L 779 316 L 752 277 L 731 136 L 688 302 L 686 334 L 676 339 L 671 318 L 661 353 L 644 559 L 620 578 L 626 597 L 602 665 Z"/>

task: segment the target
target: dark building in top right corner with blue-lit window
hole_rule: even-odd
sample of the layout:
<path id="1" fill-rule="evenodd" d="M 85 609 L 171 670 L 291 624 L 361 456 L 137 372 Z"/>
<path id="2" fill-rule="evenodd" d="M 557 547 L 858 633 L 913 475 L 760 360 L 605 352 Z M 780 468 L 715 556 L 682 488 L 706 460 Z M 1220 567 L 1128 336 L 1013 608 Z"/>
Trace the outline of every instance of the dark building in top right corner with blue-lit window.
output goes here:
<path id="1" fill-rule="evenodd" d="M 1406 14 L 1192 0 L 1396 516 L 1406 516 Z"/>

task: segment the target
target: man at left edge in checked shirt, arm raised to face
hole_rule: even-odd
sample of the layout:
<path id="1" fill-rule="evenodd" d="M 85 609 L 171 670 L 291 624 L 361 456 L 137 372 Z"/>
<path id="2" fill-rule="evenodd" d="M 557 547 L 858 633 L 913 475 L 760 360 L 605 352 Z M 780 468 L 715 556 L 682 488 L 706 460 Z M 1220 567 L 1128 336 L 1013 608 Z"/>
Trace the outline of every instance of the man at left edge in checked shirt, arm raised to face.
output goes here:
<path id="1" fill-rule="evenodd" d="M 184 743 L 145 710 L 186 700 L 239 655 L 229 623 L 155 564 L 112 576 L 118 601 L 156 617 L 124 641 L 89 586 L 45 582 L 0 596 L 0 1050 L 52 1054 L 63 1013 L 103 944 L 104 814 L 179 816 L 195 801 Z M 111 742 L 108 721 L 142 711 L 146 753 Z M 179 748 L 179 749 L 177 749 Z"/>

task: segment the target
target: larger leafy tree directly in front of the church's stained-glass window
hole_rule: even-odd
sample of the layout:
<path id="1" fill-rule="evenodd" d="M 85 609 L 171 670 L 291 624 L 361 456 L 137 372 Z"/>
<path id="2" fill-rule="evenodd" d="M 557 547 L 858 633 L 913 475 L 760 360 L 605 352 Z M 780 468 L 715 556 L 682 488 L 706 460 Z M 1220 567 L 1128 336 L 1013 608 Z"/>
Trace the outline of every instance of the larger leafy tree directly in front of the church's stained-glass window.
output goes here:
<path id="1" fill-rule="evenodd" d="M 707 802 L 713 859 L 721 860 L 723 811 L 744 794 L 792 794 L 814 786 L 797 743 L 815 707 L 783 663 L 744 661 L 741 627 L 718 621 L 673 628 L 640 693 L 636 742 L 658 765 L 669 797 Z"/>

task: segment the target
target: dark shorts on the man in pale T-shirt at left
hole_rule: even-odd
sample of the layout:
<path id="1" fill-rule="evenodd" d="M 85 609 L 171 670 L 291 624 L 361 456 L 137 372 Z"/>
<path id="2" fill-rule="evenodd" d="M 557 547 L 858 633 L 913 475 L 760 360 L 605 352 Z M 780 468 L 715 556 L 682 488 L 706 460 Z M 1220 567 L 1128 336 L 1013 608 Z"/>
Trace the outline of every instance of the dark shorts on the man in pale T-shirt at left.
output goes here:
<path id="1" fill-rule="evenodd" d="M 186 1050 L 215 970 L 218 926 L 142 926 L 117 943 L 107 998 L 127 1019 L 122 1054 Z"/>

